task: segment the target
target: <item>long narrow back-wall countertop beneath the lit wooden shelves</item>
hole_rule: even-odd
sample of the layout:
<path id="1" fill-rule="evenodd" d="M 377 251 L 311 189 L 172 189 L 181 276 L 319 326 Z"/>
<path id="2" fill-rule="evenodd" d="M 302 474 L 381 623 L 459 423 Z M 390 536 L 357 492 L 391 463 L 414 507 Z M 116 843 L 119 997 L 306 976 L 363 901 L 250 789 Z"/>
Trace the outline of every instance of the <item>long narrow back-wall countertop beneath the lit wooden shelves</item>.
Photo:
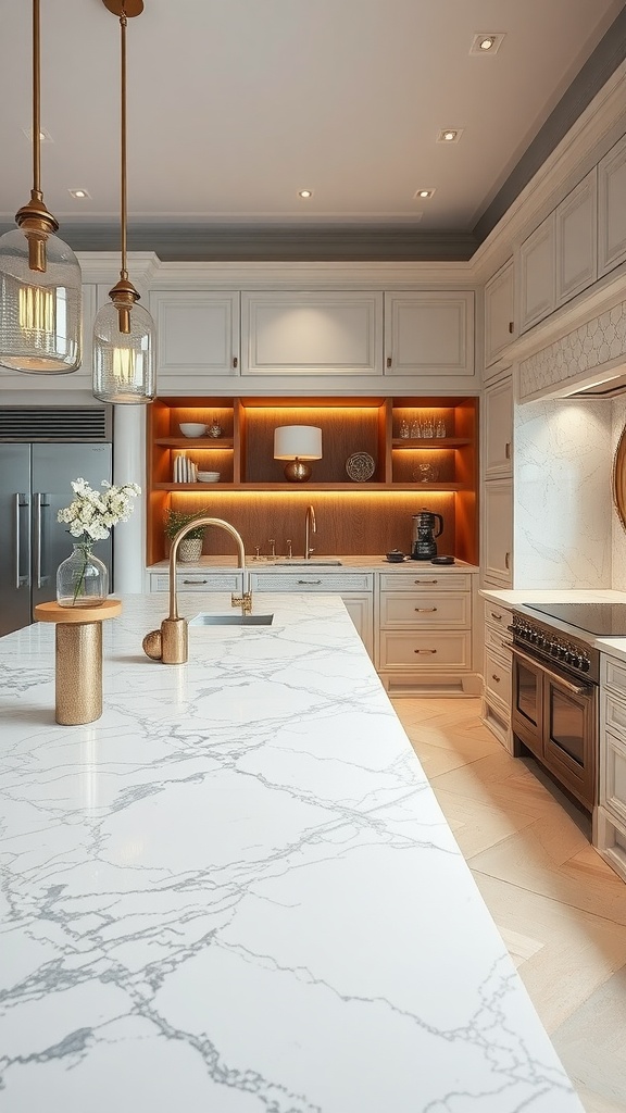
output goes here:
<path id="1" fill-rule="evenodd" d="M 265 556 L 258 560 L 255 556 L 246 556 L 246 568 L 251 572 L 288 572 L 290 568 L 301 569 L 303 560 L 303 556 L 297 555 L 293 556 L 291 561 L 287 556 L 276 556 L 275 561 Z M 327 563 L 333 560 L 341 561 L 341 564 Z M 202 556 L 199 561 L 178 562 L 177 570 L 178 572 L 219 572 L 224 569 L 236 569 L 236 556 Z M 316 553 L 310 561 L 306 561 L 306 567 L 327 572 L 341 572 L 342 569 L 348 572 L 389 572 L 390 569 L 392 571 L 404 569 L 404 571 L 409 570 L 410 572 L 424 570 L 432 572 L 437 569 L 438 575 L 440 572 L 443 574 L 450 572 L 478 574 L 480 571 L 476 564 L 466 564 L 461 560 L 456 560 L 453 564 L 431 564 L 428 560 L 404 560 L 395 563 L 385 560 L 384 556 L 324 556 L 322 553 Z M 169 561 L 162 560 L 156 564 L 149 564 L 146 571 L 167 572 L 168 569 Z"/>

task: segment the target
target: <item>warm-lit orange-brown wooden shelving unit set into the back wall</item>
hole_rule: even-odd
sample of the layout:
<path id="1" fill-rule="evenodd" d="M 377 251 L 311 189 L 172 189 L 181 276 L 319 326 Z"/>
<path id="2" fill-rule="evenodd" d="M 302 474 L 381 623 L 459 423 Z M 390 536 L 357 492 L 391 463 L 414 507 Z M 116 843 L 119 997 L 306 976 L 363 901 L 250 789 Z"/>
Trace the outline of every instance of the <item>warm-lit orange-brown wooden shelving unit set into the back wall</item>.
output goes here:
<path id="1" fill-rule="evenodd" d="M 304 510 L 316 499 L 320 553 L 375 555 L 409 551 L 411 516 L 427 506 L 442 514 L 439 551 L 478 561 L 478 398 L 476 397 L 163 397 L 149 407 L 147 432 L 148 562 L 167 555 L 163 534 L 166 506 L 209 510 L 235 525 L 246 550 L 262 551 L 270 538 L 276 552 L 302 551 Z M 430 417 L 446 436 L 401 436 L 403 422 Z M 182 422 L 216 418 L 223 436 L 187 439 Z M 288 483 L 273 457 L 278 425 L 322 430 L 322 459 L 307 483 Z M 185 452 L 200 470 L 219 471 L 217 483 L 174 483 L 174 460 Z M 345 462 L 369 453 L 375 470 L 353 482 Z M 384 498 L 387 495 L 387 498 Z M 231 552 L 213 531 L 205 551 Z"/>

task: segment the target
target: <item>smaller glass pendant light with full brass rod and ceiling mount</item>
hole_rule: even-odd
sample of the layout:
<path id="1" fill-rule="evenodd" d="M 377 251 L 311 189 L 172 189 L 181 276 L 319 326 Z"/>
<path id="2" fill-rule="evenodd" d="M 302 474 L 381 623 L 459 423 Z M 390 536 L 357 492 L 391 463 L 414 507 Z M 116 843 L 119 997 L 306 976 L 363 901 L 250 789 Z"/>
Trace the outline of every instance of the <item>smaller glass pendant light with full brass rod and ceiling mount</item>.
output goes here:
<path id="1" fill-rule="evenodd" d="M 102 402 L 151 402 L 156 392 L 155 323 L 137 305 L 139 294 L 126 265 L 126 23 L 139 16 L 143 0 L 102 0 L 119 17 L 121 35 L 121 270 L 109 290 L 110 302 L 94 322 L 94 394 Z"/>

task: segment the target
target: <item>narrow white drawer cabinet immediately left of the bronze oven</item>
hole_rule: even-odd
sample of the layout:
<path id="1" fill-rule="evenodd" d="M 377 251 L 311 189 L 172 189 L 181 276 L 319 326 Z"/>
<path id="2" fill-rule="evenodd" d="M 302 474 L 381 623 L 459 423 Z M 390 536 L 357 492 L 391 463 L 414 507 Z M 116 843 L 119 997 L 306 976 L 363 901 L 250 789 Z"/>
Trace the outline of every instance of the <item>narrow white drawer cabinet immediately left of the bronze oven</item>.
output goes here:
<path id="1" fill-rule="evenodd" d="M 512 754 L 510 621 L 511 612 L 506 607 L 485 600 L 482 721 Z"/>

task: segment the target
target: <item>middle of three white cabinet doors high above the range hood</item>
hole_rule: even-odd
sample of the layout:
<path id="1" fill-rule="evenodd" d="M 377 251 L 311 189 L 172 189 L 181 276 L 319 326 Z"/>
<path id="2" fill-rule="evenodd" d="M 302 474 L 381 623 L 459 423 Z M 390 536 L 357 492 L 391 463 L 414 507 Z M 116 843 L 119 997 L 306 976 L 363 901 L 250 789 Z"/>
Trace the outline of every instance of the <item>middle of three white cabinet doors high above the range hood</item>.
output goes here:
<path id="1" fill-rule="evenodd" d="M 569 302 L 596 280 L 597 216 L 597 173 L 594 167 L 556 210 L 557 306 Z"/>

